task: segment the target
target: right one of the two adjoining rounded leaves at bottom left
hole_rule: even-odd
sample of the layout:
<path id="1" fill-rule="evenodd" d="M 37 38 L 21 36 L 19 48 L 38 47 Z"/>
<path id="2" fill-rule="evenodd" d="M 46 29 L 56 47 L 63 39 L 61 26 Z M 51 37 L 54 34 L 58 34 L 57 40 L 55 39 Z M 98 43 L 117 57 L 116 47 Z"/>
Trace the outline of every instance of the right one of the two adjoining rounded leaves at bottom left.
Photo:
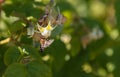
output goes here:
<path id="1" fill-rule="evenodd" d="M 28 77 L 52 77 L 48 66 L 40 62 L 30 62 L 26 65 Z"/>

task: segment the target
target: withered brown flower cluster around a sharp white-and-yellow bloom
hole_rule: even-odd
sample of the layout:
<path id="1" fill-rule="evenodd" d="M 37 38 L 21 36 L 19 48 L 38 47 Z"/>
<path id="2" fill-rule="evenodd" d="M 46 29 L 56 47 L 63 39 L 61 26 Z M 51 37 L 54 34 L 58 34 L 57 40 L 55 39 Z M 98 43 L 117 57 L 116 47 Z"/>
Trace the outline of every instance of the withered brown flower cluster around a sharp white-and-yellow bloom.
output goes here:
<path id="1" fill-rule="evenodd" d="M 40 51 L 43 51 L 48 47 L 54 39 L 48 39 L 51 36 L 51 32 L 65 22 L 66 18 L 60 14 L 55 16 L 53 14 L 53 8 L 46 7 L 45 15 L 38 19 L 35 26 L 30 25 L 28 28 L 28 35 L 32 35 L 34 41 L 40 42 Z"/>

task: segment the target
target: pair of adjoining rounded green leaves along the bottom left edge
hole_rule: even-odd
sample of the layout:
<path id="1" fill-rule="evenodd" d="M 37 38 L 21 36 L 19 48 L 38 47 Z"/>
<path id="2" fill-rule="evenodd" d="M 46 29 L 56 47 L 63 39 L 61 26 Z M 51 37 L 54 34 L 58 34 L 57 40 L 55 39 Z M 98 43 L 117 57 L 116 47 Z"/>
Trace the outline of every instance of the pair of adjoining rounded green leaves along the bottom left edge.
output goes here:
<path id="1" fill-rule="evenodd" d="M 5 71 L 4 77 L 51 77 L 50 69 L 39 62 L 30 62 L 27 65 L 11 64 Z"/>

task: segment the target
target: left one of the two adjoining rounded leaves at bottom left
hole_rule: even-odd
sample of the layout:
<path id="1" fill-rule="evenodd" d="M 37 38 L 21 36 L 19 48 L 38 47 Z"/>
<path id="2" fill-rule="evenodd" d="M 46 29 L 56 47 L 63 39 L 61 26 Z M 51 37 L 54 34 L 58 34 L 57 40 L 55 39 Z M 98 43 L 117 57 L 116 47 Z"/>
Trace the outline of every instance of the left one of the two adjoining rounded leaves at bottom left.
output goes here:
<path id="1" fill-rule="evenodd" d="M 26 70 L 24 65 L 19 63 L 14 63 L 8 66 L 3 77 L 26 77 Z"/>

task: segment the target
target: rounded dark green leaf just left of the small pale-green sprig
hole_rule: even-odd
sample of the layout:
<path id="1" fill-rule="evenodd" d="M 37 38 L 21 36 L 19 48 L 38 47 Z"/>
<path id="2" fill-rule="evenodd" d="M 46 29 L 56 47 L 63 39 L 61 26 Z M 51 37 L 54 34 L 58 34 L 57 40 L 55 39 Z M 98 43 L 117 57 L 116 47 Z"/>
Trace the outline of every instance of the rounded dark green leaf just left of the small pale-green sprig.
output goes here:
<path id="1" fill-rule="evenodd" d="M 16 46 L 10 47 L 4 55 L 4 63 L 9 65 L 11 63 L 17 62 L 21 56 L 19 49 Z"/>

